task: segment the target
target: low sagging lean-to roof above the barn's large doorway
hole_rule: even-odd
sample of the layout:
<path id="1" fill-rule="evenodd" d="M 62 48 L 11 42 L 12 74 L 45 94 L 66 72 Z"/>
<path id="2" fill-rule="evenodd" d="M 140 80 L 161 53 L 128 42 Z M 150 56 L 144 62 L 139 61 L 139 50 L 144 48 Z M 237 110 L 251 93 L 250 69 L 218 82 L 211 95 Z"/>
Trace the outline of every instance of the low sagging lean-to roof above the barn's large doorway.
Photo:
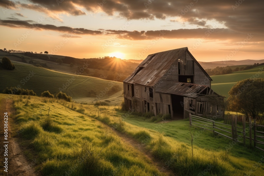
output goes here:
<path id="1" fill-rule="evenodd" d="M 181 82 L 163 82 L 164 86 L 156 88 L 155 92 L 160 93 L 169 93 L 169 94 L 175 94 L 175 95 L 181 95 L 186 97 L 198 97 L 199 95 L 202 95 L 203 91 L 206 90 L 206 94 L 216 94 L 210 87 L 206 85 L 198 85 L 198 84 L 192 84 L 192 83 L 181 83 Z M 219 96 L 219 95 L 218 95 Z"/>

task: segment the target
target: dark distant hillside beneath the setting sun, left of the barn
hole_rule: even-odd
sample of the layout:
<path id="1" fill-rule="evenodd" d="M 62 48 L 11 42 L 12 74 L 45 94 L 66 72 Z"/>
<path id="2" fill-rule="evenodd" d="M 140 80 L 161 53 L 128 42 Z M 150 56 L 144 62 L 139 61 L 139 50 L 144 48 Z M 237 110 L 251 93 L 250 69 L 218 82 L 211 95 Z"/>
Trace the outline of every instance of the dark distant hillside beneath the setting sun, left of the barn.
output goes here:
<path id="1" fill-rule="evenodd" d="M 115 57 L 77 59 L 68 56 L 33 54 L 33 53 L 5 53 L 0 52 L 0 58 L 7 56 L 12 61 L 32 64 L 51 70 L 115 80 L 122 82 L 138 66 Z M 72 63 L 72 65 L 70 65 Z"/>

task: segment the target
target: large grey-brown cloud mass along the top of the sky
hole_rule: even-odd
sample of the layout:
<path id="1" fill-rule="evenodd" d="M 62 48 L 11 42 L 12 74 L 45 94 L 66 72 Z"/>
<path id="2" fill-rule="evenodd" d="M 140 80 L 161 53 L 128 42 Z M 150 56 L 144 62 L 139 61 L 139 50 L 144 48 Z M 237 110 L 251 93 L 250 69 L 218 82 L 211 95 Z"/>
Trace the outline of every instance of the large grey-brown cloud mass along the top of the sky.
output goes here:
<path id="1" fill-rule="evenodd" d="M 29 4 L 20 4 L 44 13 L 68 13 L 84 15 L 79 7 L 91 12 L 102 10 L 107 15 L 118 14 L 126 19 L 154 20 L 181 17 L 185 22 L 206 26 L 207 20 L 222 22 L 228 28 L 239 32 L 263 32 L 264 1 L 211 1 L 211 0 L 30 0 Z M 0 5 L 10 1 L 0 0 Z"/>

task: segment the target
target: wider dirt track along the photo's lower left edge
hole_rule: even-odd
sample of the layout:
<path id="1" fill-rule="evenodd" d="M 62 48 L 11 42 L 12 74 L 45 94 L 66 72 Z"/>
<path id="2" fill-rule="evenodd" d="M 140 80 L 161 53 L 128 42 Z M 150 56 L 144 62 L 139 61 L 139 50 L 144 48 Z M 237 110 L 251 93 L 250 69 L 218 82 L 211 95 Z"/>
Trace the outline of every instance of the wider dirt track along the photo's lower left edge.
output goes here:
<path id="1" fill-rule="evenodd" d="M 18 145 L 19 139 L 16 137 L 12 137 L 10 133 L 12 133 L 12 123 L 13 117 L 15 115 L 15 109 L 13 108 L 13 103 L 11 99 L 2 99 L 0 101 L 0 116 L 1 116 L 1 139 L 3 139 L 3 117 L 4 112 L 8 113 L 8 142 L 4 143 L 8 144 L 8 172 L 4 172 L 5 175 L 16 175 L 16 176 L 40 176 L 41 174 L 36 172 L 33 169 L 34 162 L 29 163 L 25 156 L 23 155 L 22 148 Z M 1 142 L 2 143 L 2 142 Z M 2 143 L 3 144 L 3 143 Z M 2 145 L 1 144 L 1 145 Z M 3 149 L 3 148 L 2 148 Z M 1 157 L 3 157 L 3 150 L 1 150 Z"/>

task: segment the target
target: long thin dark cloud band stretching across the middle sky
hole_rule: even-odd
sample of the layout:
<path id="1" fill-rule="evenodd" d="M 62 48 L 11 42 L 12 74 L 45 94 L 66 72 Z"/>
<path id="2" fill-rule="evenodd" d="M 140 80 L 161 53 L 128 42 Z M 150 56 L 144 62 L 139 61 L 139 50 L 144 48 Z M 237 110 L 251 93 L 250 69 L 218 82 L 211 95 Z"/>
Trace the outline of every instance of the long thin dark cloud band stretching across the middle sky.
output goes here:
<path id="1" fill-rule="evenodd" d="M 251 41 L 264 41 L 264 35 L 241 33 L 228 28 L 196 28 L 178 30 L 156 30 L 156 31 L 126 31 L 126 30 L 89 30 L 85 28 L 72 28 L 68 26 L 55 26 L 39 24 L 31 20 L 0 20 L 0 25 L 12 28 L 35 28 L 37 30 L 51 30 L 64 33 L 64 37 L 79 38 L 77 35 L 114 35 L 116 38 L 125 40 L 153 40 L 153 39 L 205 39 L 243 41 L 248 36 Z"/>

